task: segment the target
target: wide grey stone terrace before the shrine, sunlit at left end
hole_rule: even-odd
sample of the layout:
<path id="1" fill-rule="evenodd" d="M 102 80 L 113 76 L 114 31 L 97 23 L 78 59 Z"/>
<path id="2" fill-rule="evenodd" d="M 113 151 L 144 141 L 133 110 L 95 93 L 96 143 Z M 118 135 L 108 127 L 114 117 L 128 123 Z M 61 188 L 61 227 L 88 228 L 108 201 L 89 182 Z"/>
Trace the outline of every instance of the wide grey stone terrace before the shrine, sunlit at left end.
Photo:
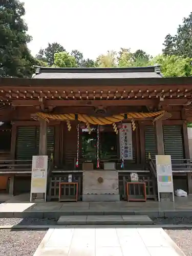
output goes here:
<path id="1" fill-rule="evenodd" d="M 0 195 L 0 200 L 3 200 Z M 11 197 L 0 204 L 1 218 L 58 218 L 63 215 L 147 215 L 149 217 L 191 217 L 192 196 L 173 202 L 39 202 L 30 203 L 29 194 Z"/>

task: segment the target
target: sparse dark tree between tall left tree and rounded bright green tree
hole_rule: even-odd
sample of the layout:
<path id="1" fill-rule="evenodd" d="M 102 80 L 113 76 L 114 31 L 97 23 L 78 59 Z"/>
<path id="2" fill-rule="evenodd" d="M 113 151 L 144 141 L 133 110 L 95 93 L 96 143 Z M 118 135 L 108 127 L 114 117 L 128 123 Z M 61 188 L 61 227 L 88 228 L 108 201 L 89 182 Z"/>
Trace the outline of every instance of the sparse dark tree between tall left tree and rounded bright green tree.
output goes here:
<path id="1" fill-rule="evenodd" d="M 36 58 L 48 63 L 48 66 L 51 67 L 54 64 L 54 56 L 55 53 L 65 52 L 66 49 L 58 44 L 57 42 L 53 42 L 53 44 L 48 44 L 48 47 L 45 49 L 40 49 Z"/>

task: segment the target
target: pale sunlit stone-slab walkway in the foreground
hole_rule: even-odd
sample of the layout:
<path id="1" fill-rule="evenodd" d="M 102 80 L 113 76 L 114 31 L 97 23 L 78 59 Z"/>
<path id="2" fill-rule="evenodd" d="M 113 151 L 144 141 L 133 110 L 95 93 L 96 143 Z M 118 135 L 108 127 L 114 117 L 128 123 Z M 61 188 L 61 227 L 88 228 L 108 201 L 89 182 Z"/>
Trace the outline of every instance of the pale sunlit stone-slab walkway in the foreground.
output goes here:
<path id="1" fill-rule="evenodd" d="M 162 228 L 49 229 L 34 256 L 184 256 Z"/>

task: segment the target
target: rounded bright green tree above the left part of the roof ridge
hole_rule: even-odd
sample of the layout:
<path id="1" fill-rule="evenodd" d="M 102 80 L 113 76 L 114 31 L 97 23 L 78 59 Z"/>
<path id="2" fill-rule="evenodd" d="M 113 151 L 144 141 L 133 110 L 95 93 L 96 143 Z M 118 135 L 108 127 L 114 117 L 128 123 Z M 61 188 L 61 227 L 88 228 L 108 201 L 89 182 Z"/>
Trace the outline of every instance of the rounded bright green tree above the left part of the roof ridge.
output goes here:
<path id="1" fill-rule="evenodd" d="M 77 66 L 75 57 L 68 52 L 55 53 L 54 66 L 58 68 L 75 68 Z"/>

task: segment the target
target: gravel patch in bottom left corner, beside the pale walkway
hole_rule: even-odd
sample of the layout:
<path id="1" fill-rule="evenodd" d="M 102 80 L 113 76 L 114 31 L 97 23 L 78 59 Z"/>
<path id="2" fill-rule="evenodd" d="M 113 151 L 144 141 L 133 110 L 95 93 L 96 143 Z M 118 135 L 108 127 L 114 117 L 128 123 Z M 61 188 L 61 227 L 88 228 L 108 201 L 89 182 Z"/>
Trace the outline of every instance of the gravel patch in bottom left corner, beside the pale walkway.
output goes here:
<path id="1" fill-rule="evenodd" d="M 0 230 L 0 256 L 33 256 L 47 230 Z"/>

